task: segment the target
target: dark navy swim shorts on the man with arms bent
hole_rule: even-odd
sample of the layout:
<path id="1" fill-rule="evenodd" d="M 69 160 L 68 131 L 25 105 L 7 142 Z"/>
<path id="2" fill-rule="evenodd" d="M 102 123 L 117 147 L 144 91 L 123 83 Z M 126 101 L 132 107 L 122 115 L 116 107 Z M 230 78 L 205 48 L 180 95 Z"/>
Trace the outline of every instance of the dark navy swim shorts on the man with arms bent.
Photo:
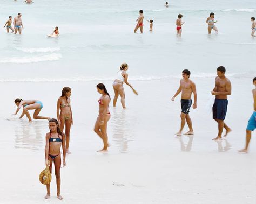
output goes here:
<path id="1" fill-rule="evenodd" d="M 212 107 L 213 119 L 221 119 L 224 121 L 227 113 L 227 99 L 215 99 Z"/>

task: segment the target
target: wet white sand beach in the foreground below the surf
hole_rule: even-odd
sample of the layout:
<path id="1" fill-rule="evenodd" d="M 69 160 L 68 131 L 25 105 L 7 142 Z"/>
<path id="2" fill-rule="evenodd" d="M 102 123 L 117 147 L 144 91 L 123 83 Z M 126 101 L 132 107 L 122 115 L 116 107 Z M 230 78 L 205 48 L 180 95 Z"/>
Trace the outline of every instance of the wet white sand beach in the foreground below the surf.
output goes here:
<path id="1" fill-rule="evenodd" d="M 241 86 L 241 80 L 248 83 Z M 220 142 L 212 141 L 217 124 L 205 108 L 214 78 L 194 79 L 200 83 L 198 109 L 191 109 L 195 136 L 189 140 L 173 135 L 179 129 L 180 103 L 179 98 L 173 103 L 170 98 L 178 81 L 134 81 L 138 97 L 125 87 L 128 109 L 122 111 L 120 103 L 116 110 L 110 107 L 112 146 L 107 154 L 96 152 L 102 142 L 92 131 L 97 82 L 1 83 L 0 203 L 255 203 L 255 138 L 249 154 L 237 153 L 244 146 L 252 112 L 251 79 L 231 78 L 226 122 L 233 132 Z M 113 96 L 111 81 L 104 83 Z M 63 86 L 70 86 L 73 93 L 72 154 L 61 170 L 64 200 L 56 198 L 54 174 L 52 197 L 45 200 L 46 189 L 38 176 L 44 168 L 47 122 L 29 125 L 25 118 L 7 121 L 6 117 L 15 111 L 16 97 L 42 100 L 42 115 L 55 117 Z"/>

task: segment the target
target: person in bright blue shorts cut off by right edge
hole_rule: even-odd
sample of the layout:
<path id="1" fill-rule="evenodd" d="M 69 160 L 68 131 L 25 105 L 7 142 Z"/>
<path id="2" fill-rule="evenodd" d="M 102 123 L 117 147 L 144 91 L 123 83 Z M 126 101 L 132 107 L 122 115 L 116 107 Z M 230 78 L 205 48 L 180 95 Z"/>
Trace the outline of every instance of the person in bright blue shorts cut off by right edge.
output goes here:
<path id="1" fill-rule="evenodd" d="M 253 79 L 253 85 L 256 87 L 256 77 L 254 77 Z M 251 140 L 251 136 L 252 136 L 252 131 L 254 131 L 256 129 L 256 88 L 252 90 L 252 94 L 253 94 L 253 108 L 254 111 L 252 113 L 252 116 L 250 117 L 249 121 L 248 121 L 248 125 L 246 128 L 246 144 L 245 144 L 245 149 L 242 150 L 238 150 L 240 153 L 247 153 L 248 152 L 248 146 Z"/>

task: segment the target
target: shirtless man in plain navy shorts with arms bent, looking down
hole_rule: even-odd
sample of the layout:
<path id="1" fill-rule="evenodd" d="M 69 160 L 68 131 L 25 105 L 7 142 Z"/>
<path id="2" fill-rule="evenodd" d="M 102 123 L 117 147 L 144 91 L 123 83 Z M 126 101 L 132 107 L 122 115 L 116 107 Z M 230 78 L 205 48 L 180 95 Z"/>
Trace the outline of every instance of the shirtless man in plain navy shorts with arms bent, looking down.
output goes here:
<path id="1" fill-rule="evenodd" d="M 215 102 L 212 107 L 213 119 L 218 123 L 218 136 L 212 140 L 221 140 L 223 128 L 226 129 L 226 134 L 231 131 L 230 128 L 224 123 L 227 113 L 227 96 L 231 95 L 231 82 L 225 76 L 226 69 L 223 66 L 217 68 L 217 77 L 215 78 L 215 87 L 212 90 L 212 95 L 215 95 Z"/>

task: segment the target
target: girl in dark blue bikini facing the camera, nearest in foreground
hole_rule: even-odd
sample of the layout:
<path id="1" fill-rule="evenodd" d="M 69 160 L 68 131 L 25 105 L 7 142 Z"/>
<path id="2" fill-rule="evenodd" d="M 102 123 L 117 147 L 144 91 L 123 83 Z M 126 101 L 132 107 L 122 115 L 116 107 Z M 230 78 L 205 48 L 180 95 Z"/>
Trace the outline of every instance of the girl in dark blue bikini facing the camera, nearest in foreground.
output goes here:
<path id="1" fill-rule="evenodd" d="M 56 183 L 57 183 L 57 197 L 62 200 L 63 197 L 60 195 L 60 166 L 63 163 L 63 166 L 66 166 L 66 145 L 65 145 L 65 135 L 60 130 L 57 119 L 50 119 L 49 121 L 49 129 L 45 136 L 45 165 L 49 166 L 50 172 L 52 167 L 52 161 L 54 161 L 55 167 L 55 175 L 56 175 Z M 62 146 L 63 151 L 63 162 L 60 157 L 60 147 Z M 50 163 L 48 163 L 48 160 Z M 50 184 L 46 185 L 47 194 L 45 195 L 45 199 L 50 198 Z"/>

